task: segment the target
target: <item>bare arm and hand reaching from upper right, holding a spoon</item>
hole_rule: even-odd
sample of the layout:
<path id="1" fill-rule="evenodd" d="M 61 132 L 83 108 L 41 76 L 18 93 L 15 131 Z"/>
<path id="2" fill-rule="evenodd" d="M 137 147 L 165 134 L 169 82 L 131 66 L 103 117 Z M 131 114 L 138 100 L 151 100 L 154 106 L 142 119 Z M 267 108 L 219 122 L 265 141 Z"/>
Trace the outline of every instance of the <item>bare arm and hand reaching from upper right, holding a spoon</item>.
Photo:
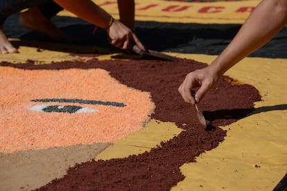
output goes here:
<path id="1" fill-rule="evenodd" d="M 232 66 L 275 37 L 287 24 L 286 0 L 263 0 L 247 18 L 232 42 L 211 65 L 186 75 L 178 91 L 186 102 L 200 102 L 205 93 L 217 84 L 219 78 Z M 190 90 L 200 87 L 195 100 Z"/>

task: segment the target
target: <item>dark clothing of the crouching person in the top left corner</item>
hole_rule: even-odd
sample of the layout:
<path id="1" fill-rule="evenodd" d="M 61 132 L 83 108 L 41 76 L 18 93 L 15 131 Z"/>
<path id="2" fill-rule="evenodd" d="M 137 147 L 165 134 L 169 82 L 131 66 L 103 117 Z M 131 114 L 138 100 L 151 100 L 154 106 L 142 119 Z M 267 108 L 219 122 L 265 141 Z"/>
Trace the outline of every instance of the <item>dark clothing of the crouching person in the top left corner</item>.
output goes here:
<path id="1" fill-rule="evenodd" d="M 24 10 L 25 8 L 31 8 L 36 6 L 42 6 L 48 0 L 0 0 L 0 24 L 10 15 Z"/>

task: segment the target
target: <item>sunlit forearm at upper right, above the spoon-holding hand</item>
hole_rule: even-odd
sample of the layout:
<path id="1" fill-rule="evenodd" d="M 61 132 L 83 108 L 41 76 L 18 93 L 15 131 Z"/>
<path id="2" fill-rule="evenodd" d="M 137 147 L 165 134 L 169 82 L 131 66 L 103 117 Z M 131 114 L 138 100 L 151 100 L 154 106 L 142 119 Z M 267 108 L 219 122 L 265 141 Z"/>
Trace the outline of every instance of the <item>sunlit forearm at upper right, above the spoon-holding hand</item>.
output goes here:
<path id="1" fill-rule="evenodd" d="M 266 44 L 287 24 L 286 0 L 263 0 L 245 21 L 232 42 L 211 64 L 216 73 L 228 69 Z"/>

